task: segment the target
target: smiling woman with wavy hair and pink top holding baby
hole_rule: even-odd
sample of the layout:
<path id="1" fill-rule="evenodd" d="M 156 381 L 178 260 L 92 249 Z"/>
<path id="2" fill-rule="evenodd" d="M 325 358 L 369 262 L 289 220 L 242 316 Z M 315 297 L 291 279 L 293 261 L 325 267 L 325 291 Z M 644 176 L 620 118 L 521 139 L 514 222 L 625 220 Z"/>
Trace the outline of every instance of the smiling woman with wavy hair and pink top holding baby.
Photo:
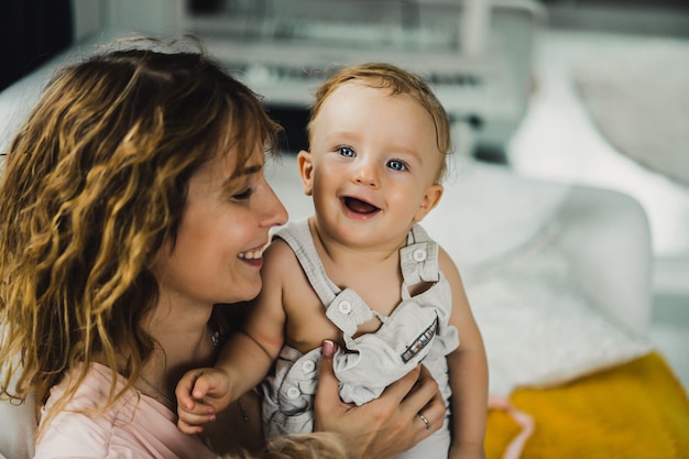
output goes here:
<path id="1" fill-rule="evenodd" d="M 277 132 L 253 92 L 198 52 L 112 51 L 53 78 L 0 184 L 0 386 L 43 404 L 36 458 L 238 446 L 223 441 L 245 428 L 237 419 L 205 437 L 177 430 L 174 389 L 214 362 L 232 326 L 214 305 L 261 289 L 269 231 L 287 219 L 263 176 Z M 422 409 L 441 424 L 433 381 L 407 395 L 418 371 L 352 408 L 324 362 L 317 427 L 349 455 L 413 446 L 434 431 Z"/>

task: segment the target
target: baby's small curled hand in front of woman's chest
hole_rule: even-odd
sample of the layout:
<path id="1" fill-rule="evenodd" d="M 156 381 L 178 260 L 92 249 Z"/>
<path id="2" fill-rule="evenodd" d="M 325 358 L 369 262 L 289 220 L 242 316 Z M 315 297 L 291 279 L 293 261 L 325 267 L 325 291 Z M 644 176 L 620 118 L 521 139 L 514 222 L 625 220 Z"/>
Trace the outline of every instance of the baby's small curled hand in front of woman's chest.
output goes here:
<path id="1" fill-rule="evenodd" d="M 185 434 L 204 431 L 204 424 L 216 420 L 216 414 L 227 408 L 230 400 L 228 375 L 212 368 L 188 371 L 175 390 L 177 396 L 177 427 Z"/>

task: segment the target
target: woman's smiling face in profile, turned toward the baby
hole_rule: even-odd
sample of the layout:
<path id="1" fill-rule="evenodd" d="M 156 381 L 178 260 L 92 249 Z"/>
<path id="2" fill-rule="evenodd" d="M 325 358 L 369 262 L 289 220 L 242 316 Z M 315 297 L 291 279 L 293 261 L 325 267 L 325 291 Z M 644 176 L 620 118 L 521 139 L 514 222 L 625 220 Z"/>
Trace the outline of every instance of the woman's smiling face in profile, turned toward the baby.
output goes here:
<path id="1" fill-rule="evenodd" d="M 265 181 L 263 150 L 234 177 L 232 157 L 217 154 L 189 179 L 176 240 L 154 263 L 161 298 L 237 303 L 261 291 L 269 231 L 284 225 L 287 212 Z"/>

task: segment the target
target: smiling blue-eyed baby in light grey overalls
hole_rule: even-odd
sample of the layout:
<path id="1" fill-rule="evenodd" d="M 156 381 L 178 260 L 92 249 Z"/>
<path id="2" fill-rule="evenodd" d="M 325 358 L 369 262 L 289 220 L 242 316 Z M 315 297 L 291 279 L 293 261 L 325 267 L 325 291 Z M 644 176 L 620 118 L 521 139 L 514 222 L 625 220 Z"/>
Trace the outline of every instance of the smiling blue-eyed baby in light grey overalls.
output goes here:
<path id="1" fill-rule="evenodd" d="M 311 431 L 328 339 L 339 343 L 344 402 L 369 402 L 422 362 L 438 382 L 445 428 L 403 457 L 482 458 L 483 342 L 458 269 L 419 225 L 444 190 L 451 140 L 442 106 L 402 68 L 347 67 L 318 88 L 308 138 L 297 163 L 315 215 L 276 232 L 243 330 L 214 369 L 179 382 L 179 427 L 199 431 L 263 381 L 266 437 Z M 418 419 L 430 428 L 423 412 Z"/>

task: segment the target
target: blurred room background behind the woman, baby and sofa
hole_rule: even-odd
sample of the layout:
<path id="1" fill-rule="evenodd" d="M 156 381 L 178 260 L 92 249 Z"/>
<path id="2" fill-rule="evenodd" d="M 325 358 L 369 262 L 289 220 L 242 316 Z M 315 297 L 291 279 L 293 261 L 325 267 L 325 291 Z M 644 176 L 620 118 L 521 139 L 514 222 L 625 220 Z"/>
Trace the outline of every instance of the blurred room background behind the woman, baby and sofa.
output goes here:
<path id="1" fill-rule="evenodd" d="M 686 0 L 8 0 L 0 90 L 68 47 L 193 33 L 305 146 L 319 70 L 390 61 L 446 106 L 461 154 L 615 189 L 648 216 L 650 336 L 689 385 Z"/>

